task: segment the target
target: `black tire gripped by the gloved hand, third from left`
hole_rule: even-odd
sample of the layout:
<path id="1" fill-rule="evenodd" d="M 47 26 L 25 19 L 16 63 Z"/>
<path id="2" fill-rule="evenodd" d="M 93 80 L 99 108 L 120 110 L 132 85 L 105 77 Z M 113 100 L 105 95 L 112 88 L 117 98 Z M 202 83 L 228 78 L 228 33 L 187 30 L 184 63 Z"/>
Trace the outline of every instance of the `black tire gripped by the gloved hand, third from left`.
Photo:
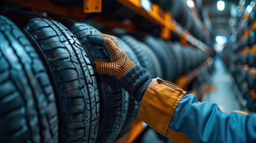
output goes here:
<path id="1" fill-rule="evenodd" d="M 81 41 L 92 61 L 110 60 L 110 57 L 106 55 L 106 51 L 100 47 L 95 48 L 86 38 L 89 34 L 100 34 L 101 32 L 88 24 L 78 23 L 78 21 L 65 18 L 60 21 Z M 129 95 L 116 83 L 116 80 L 99 74 L 96 74 L 96 76 L 101 101 L 101 120 L 97 142 L 113 142 L 121 131 L 127 116 Z"/>

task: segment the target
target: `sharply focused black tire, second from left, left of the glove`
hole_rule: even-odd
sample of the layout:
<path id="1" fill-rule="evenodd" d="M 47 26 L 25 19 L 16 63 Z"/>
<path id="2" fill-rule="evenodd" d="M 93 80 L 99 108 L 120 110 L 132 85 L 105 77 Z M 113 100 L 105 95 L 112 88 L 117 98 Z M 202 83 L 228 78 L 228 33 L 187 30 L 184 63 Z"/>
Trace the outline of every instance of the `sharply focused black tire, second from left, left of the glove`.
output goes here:
<path id="1" fill-rule="evenodd" d="M 95 142 L 100 101 L 94 71 L 81 43 L 57 21 L 27 11 L 4 13 L 24 29 L 57 91 L 60 142 Z"/>

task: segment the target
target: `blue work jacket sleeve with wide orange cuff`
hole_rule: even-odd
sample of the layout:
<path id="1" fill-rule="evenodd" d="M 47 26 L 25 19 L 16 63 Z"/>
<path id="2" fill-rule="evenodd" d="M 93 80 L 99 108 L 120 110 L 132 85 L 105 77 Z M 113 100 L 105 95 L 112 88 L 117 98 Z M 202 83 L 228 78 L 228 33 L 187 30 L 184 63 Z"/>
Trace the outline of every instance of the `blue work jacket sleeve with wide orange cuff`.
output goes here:
<path id="1" fill-rule="evenodd" d="M 225 113 L 159 78 L 147 88 L 138 119 L 174 142 L 256 142 L 255 114 Z"/>

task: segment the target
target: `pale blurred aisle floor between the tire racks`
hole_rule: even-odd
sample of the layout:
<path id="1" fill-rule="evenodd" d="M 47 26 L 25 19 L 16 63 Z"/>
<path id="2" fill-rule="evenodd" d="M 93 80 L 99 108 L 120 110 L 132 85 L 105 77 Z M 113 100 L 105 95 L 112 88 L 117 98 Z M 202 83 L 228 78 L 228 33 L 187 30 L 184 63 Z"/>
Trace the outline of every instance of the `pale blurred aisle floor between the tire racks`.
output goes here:
<path id="1" fill-rule="evenodd" d="M 232 90 L 233 79 L 229 71 L 227 71 L 223 62 L 218 58 L 215 60 L 214 66 L 215 70 L 214 73 L 212 73 L 212 85 L 215 86 L 216 90 L 205 95 L 202 101 L 217 103 L 219 107 L 226 112 L 242 110 L 238 100 L 236 100 L 236 93 Z"/>

